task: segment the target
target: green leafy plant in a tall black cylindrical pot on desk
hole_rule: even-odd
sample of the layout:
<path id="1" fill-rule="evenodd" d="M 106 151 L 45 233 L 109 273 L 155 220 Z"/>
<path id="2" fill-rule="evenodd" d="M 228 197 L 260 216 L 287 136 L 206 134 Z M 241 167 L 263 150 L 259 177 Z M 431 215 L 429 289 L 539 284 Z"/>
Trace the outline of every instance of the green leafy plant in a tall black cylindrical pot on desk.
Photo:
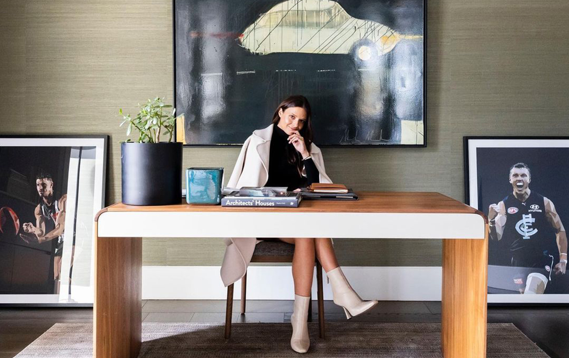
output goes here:
<path id="1" fill-rule="evenodd" d="M 136 117 L 122 116 L 126 135 L 121 143 L 122 202 L 129 205 L 168 205 L 182 201 L 182 143 L 174 140 L 175 109 L 156 97 L 138 104 Z M 165 137 L 165 138 L 163 138 Z"/>

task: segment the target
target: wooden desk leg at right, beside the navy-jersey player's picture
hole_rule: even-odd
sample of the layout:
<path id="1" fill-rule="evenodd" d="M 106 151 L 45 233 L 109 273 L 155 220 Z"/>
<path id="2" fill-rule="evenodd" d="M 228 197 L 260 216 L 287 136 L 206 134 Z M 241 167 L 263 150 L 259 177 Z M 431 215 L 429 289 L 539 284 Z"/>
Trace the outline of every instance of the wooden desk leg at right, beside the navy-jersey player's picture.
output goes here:
<path id="1" fill-rule="evenodd" d="M 486 357 L 488 237 L 443 240 L 444 358 Z"/>

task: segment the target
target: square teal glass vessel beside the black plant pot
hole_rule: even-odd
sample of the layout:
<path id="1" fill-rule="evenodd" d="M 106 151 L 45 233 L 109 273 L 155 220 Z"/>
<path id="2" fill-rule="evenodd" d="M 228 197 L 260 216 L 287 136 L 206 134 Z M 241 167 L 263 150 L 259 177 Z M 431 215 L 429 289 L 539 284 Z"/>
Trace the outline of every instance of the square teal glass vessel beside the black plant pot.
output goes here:
<path id="1" fill-rule="evenodd" d="M 188 204 L 221 203 L 223 168 L 187 168 L 185 180 L 185 201 Z"/>

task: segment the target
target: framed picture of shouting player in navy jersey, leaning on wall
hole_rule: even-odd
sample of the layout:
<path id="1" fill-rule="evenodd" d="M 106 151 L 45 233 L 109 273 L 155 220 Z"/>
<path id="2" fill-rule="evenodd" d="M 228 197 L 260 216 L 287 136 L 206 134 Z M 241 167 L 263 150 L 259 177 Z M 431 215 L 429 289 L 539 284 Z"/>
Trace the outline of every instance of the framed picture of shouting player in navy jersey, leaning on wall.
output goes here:
<path id="1" fill-rule="evenodd" d="M 465 203 L 488 216 L 488 302 L 567 303 L 569 137 L 464 137 Z"/>

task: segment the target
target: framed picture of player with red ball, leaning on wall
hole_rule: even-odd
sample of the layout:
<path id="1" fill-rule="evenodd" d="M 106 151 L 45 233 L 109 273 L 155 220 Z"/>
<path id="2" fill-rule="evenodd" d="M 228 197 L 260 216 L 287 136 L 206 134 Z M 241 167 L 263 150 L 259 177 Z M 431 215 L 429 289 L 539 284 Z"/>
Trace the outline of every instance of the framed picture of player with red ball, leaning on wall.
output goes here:
<path id="1" fill-rule="evenodd" d="M 93 304 L 106 135 L 0 136 L 0 304 Z"/>

